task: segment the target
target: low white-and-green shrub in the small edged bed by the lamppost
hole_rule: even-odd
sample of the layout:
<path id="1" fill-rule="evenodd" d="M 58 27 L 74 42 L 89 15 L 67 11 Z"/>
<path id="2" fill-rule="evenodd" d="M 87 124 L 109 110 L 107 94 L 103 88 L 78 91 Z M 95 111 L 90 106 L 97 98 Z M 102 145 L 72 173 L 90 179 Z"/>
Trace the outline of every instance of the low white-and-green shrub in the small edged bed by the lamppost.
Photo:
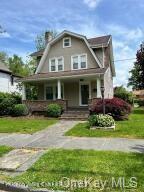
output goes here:
<path id="1" fill-rule="evenodd" d="M 91 115 L 88 118 L 88 122 L 90 126 L 97 126 L 97 127 L 111 127 L 115 125 L 115 121 L 112 116 L 110 115 Z"/>

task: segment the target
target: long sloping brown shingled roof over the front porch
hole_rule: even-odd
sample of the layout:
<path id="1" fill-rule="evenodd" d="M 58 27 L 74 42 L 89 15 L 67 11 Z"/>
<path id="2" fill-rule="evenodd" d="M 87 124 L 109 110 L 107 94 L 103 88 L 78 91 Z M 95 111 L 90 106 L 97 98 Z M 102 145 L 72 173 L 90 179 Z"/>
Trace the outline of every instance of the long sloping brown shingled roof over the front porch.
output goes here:
<path id="1" fill-rule="evenodd" d="M 66 79 L 66 78 L 75 78 L 82 76 L 94 76 L 104 74 L 107 68 L 90 68 L 82 70 L 73 70 L 73 71 L 62 71 L 62 72 L 48 72 L 48 73 L 38 73 L 30 75 L 19 79 L 19 82 L 32 82 L 39 80 L 50 80 L 50 79 Z"/>

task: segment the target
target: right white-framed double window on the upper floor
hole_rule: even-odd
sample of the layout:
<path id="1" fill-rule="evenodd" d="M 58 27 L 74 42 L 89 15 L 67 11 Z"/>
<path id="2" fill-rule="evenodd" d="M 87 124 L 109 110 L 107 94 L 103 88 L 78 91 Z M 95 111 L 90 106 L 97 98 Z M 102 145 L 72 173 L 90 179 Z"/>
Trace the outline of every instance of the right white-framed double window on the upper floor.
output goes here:
<path id="1" fill-rule="evenodd" d="M 87 55 L 74 55 L 71 59 L 72 70 L 87 68 Z"/>

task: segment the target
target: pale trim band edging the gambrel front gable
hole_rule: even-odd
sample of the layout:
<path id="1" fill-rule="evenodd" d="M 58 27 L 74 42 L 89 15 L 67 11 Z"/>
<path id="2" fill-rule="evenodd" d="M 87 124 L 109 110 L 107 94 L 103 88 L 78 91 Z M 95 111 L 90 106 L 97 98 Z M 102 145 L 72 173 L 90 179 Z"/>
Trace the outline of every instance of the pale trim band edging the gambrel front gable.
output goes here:
<path id="1" fill-rule="evenodd" d="M 47 57 L 47 54 L 48 54 L 48 52 L 49 52 L 49 49 L 50 49 L 51 45 L 54 44 L 55 42 L 57 42 L 59 39 L 61 39 L 64 35 L 70 35 L 70 36 L 73 36 L 73 37 L 82 39 L 82 40 L 85 42 L 86 46 L 88 47 L 89 51 L 91 52 L 92 56 L 94 57 L 95 61 L 96 61 L 97 64 L 99 65 L 99 67 L 100 67 L 100 68 L 102 67 L 102 65 L 101 65 L 98 57 L 95 55 L 94 51 L 93 51 L 92 48 L 90 47 L 90 45 L 89 45 L 89 43 L 88 43 L 88 40 L 87 40 L 87 38 L 86 38 L 85 36 L 64 30 L 62 33 L 60 33 L 59 35 L 57 35 L 53 40 L 51 40 L 51 41 L 47 44 L 47 46 L 46 46 L 46 48 L 45 48 L 45 50 L 44 50 L 43 56 L 42 56 L 42 58 L 41 58 L 41 60 L 40 60 L 40 63 L 39 63 L 39 65 L 38 65 L 38 67 L 37 67 L 36 73 L 39 73 L 39 72 L 40 72 L 40 69 L 41 69 L 42 65 L 44 64 L 44 62 L 45 62 L 45 59 L 46 59 L 46 57 Z"/>

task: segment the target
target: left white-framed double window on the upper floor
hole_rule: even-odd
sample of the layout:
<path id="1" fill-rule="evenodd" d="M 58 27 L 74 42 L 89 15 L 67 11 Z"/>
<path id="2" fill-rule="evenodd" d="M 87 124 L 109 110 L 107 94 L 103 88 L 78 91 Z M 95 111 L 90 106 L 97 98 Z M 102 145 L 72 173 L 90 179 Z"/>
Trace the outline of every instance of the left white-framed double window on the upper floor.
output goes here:
<path id="1" fill-rule="evenodd" d="M 50 72 L 58 72 L 64 70 L 64 58 L 58 57 L 50 59 L 49 61 L 49 71 Z"/>

